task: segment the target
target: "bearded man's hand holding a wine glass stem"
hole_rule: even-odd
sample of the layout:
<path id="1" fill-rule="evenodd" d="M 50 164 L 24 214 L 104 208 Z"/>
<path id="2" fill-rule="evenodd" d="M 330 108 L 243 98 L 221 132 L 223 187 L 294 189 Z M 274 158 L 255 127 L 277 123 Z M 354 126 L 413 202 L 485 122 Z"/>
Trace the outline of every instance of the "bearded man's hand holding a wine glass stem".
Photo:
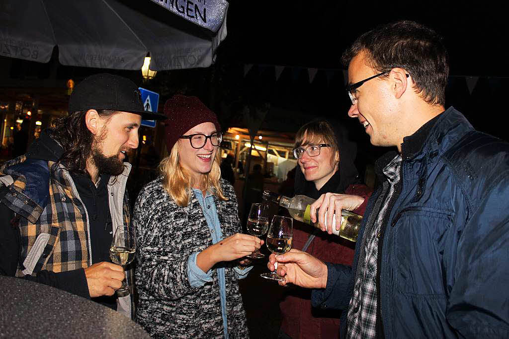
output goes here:
<path id="1" fill-rule="evenodd" d="M 122 266 L 110 262 L 99 262 L 85 268 L 91 298 L 113 295 L 125 279 Z"/>

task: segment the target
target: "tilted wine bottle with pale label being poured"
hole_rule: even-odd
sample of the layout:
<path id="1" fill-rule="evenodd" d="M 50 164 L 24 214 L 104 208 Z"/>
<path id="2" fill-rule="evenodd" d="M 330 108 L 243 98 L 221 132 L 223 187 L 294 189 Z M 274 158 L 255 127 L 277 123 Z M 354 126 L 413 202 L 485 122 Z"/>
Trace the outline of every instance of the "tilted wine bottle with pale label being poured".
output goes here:
<path id="1" fill-rule="evenodd" d="M 263 199 L 265 201 L 272 201 L 279 206 L 285 207 L 290 212 L 293 219 L 301 221 L 316 228 L 320 228 L 318 224 L 318 209 L 317 209 L 317 222 L 313 223 L 310 216 L 310 205 L 316 200 L 313 198 L 306 197 L 305 195 L 297 195 L 293 198 L 288 198 L 277 193 L 270 191 L 263 191 Z M 326 214 L 327 215 L 327 214 Z M 336 230 L 336 218 L 332 218 L 332 234 L 339 235 L 342 238 L 350 241 L 357 241 L 357 235 L 359 234 L 360 224 L 362 222 L 361 215 L 355 214 L 348 210 L 341 211 L 341 227 L 340 230 Z M 325 222 L 327 225 L 327 222 Z"/>

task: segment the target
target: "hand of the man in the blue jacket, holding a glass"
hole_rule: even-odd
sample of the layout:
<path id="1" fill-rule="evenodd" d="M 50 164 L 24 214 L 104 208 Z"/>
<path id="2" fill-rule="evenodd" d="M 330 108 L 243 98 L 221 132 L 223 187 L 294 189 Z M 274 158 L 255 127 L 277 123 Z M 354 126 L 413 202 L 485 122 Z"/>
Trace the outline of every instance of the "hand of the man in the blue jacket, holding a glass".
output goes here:
<path id="1" fill-rule="evenodd" d="M 276 256 L 271 254 L 267 264 L 271 271 L 274 270 L 275 262 Z M 281 286 L 288 283 L 306 288 L 327 286 L 327 265 L 306 252 L 291 249 L 290 252 L 277 256 L 277 262 L 277 274 L 286 278 L 286 281 L 279 282 Z"/>

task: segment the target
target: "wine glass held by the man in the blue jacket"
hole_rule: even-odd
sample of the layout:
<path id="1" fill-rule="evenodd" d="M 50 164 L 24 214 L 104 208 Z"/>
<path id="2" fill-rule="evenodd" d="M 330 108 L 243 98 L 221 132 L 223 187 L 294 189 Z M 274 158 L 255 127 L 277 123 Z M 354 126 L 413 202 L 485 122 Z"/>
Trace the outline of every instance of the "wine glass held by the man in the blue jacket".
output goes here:
<path id="1" fill-rule="evenodd" d="M 274 215 L 267 233 L 267 248 L 275 255 L 285 254 L 292 248 L 293 219 Z M 274 271 L 260 274 L 263 278 L 277 281 L 285 281 L 283 276 L 277 274 L 277 261 L 274 263 Z"/>

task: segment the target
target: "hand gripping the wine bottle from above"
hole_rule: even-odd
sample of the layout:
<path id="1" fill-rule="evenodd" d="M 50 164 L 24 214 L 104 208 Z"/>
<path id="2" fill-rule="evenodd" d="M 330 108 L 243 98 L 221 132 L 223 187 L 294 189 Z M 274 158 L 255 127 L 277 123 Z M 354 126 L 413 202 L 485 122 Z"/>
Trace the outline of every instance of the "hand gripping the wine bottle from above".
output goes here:
<path id="1" fill-rule="evenodd" d="M 316 223 L 316 210 L 318 210 L 318 222 L 322 231 L 326 231 L 332 234 L 332 218 L 336 215 L 336 231 L 340 230 L 341 227 L 341 210 L 346 209 L 353 211 L 364 202 L 364 198 L 358 195 L 350 194 L 337 194 L 337 193 L 325 193 L 318 198 L 313 204 L 310 205 L 310 217 L 311 221 Z M 327 212 L 327 220 L 325 219 L 325 213 Z M 325 226 L 327 223 L 327 226 Z"/>

